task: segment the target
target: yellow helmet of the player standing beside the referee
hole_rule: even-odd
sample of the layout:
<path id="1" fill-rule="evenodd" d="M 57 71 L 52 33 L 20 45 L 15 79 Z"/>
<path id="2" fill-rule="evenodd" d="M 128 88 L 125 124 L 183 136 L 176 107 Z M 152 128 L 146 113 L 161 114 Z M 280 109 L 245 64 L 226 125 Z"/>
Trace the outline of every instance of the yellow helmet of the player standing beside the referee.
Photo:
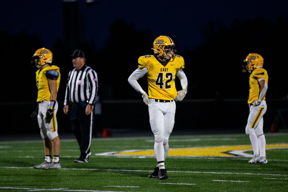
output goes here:
<path id="1" fill-rule="evenodd" d="M 31 65 L 32 67 L 40 68 L 44 64 L 51 64 L 53 59 L 53 54 L 49 49 L 40 48 L 35 51 L 32 56 Z"/>

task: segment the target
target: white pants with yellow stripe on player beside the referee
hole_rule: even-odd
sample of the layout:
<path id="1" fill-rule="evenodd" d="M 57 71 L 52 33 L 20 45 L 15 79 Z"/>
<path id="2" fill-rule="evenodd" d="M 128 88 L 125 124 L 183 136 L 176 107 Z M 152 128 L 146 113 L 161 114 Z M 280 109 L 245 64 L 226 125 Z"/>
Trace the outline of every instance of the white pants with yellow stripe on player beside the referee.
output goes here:
<path id="1" fill-rule="evenodd" d="M 57 119 L 56 119 L 56 113 L 58 110 L 58 103 L 56 101 L 55 107 L 54 107 L 54 113 L 53 117 L 51 119 L 51 122 L 48 124 L 46 123 L 46 112 L 48 108 L 49 101 L 44 100 L 40 102 L 38 105 L 38 125 L 40 128 L 40 134 L 42 139 L 49 138 L 49 140 L 53 140 L 55 137 L 58 136 L 58 125 L 57 125 Z"/>

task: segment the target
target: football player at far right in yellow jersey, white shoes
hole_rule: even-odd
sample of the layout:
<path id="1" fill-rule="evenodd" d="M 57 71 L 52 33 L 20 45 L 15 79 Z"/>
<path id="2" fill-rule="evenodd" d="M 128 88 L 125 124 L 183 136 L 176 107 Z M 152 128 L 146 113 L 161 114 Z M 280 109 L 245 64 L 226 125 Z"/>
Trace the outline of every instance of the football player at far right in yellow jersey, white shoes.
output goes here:
<path id="1" fill-rule="evenodd" d="M 263 115 L 267 110 L 265 101 L 266 91 L 268 89 L 268 74 L 263 69 L 263 61 L 261 55 L 257 53 L 250 53 L 245 58 L 245 65 L 243 72 L 248 71 L 251 73 L 249 77 L 249 99 L 248 104 L 250 113 L 246 125 L 246 134 L 249 135 L 253 147 L 253 158 L 248 163 L 264 163 L 266 159 L 266 140 L 263 133 Z"/>

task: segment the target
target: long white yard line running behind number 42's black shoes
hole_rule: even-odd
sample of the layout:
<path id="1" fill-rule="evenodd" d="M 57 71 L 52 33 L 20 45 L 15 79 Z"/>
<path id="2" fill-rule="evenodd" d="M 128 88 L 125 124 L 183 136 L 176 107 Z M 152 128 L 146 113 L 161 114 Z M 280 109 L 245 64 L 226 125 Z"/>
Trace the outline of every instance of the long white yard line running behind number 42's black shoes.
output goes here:
<path id="1" fill-rule="evenodd" d="M 33 167 L 0 167 L 5 169 L 33 169 Z M 124 171 L 124 172 L 151 172 L 153 170 L 127 170 L 127 169 L 86 169 L 86 168 L 61 168 L 61 170 L 88 170 L 88 171 Z M 232 174 L 232 175 L 269 175 L 288 176 L 268 173 L 232 173 L 232 172 L 206 172 L 206 171 L 169 171 L 169 173 L 203 173 L 203 174 Z"/>

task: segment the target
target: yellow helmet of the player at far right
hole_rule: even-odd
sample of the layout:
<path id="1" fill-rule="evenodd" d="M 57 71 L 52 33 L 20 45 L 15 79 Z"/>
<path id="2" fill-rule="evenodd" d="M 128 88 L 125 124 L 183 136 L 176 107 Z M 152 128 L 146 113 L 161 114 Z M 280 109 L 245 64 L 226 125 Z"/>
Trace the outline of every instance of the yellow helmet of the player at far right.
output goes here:
<path id="1" fill-rule="evenodd" d="M 243 72 L 248 71 L 249 73 L 251 73 L 251 71 L 253 69 L 255 69 L 256 67 L 262 67 L 263 66 L 264 59 L 261 55 L 259 55 L 257 53 L 250 53 L 245 58 L 244 62 L 245 62 L 245 65 L 243 65 L 242 71 Z"/>

